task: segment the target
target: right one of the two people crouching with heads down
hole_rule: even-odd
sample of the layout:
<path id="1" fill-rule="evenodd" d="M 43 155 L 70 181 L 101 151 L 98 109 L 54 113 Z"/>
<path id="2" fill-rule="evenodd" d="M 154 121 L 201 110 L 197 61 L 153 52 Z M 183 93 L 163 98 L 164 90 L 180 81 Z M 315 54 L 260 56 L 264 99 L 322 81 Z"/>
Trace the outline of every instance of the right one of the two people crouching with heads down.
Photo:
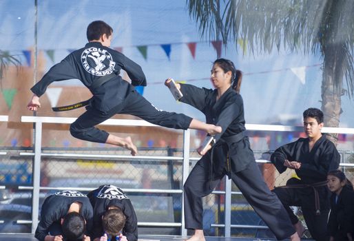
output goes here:
<path id="1" fill-rule="evenodd" d="M 105 240 L 107 235 L 120 236 L 121 241 L 138 240 L 138 220 L 132 202 L 120 188 L 102 185 L 87 197 L 94 208 L 94 241 Z"/>

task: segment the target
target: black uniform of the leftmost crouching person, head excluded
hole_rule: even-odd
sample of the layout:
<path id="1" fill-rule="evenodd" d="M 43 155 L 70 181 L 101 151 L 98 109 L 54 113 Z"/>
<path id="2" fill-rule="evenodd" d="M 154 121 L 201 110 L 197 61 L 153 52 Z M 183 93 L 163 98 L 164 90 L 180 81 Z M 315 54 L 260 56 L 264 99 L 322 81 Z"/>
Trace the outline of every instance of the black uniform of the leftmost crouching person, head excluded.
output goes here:
<path id="1" fill-rule="evenodd" d="M 57 191 L 45 198 L 41 207 L 41 220 L 39 220 L 34 237 L 43 241 L 46 235 L 63 235 L 61 218 L 67 215 L 73 202 L 82 204 L 80 214 L 85 218 L 87 234 L 92 229 L 93 218 L 90 200 L 79 191 Z"/>

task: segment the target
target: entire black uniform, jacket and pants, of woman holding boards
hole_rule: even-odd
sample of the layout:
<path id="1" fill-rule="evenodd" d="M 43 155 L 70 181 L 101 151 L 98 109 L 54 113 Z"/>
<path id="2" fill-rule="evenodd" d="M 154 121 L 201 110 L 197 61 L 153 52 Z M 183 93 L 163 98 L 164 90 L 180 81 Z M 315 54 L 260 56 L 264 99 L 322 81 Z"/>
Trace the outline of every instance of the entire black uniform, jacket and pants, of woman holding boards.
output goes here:
<path id="1" fill-rule="evenodd" d="M 264 182 L 249 138 L 244 136 L 240 94 L 229 87 L 216 101 L 217 90 L 187 84 L 181 84 L 180 90 L 180 101 L 203 112 L 207 123 L 222 127 L 222 133 L 215 136 L 216 144 L 198 160 L 185 182 L 185 227 L 202 229 L 202 197 L 211 193 L 226 174 L 279 240 L 295 233 L 282 203 Z"/>

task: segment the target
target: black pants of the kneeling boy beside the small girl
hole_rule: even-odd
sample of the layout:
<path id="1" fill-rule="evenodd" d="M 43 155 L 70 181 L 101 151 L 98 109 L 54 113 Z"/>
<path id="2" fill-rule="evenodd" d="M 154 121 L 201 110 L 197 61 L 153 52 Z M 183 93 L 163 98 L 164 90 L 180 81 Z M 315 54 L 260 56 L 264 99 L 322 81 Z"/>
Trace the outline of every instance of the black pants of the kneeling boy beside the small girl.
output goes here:
<path id="1" fill-rule="evenodd" d="M 322 188 L 326 187 L 319 187 L 319 189 Z M 329 207 L 322 204 L 320 215 L 316 215 L 314 207 L 315 200 L 313 197 L 313 189 L 311 187 L 305 187 L 304 189 L 275 187 L 272 191 L 278 196 L 284 205 L 293 224 L 297 223 L 299 220 L 289 206 L 301 207 L 304 220 L 312 238 L 317 241 L 329 240 L 329 236 L 327 235 Z M 326 198 L 328 197 L 320 196 L 320 202 L 324 202 L 323 199 Z"/>

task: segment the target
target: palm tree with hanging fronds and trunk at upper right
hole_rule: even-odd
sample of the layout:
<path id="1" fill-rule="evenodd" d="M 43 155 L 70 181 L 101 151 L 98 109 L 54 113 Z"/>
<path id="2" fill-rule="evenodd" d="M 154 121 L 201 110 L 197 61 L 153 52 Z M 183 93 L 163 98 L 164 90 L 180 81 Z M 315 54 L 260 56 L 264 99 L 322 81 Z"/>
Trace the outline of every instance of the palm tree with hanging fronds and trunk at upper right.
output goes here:
<path id="1" fill-rule="evenodd" d="M 187 0 L 187 8 L 202 36 L 245 39 L 253 54 L 320 51 L 324 123 L 339 126 L 341 96 L 354 94 L 353 0 Z M 336 143 L 337 135 L 329 139 Z"/>

